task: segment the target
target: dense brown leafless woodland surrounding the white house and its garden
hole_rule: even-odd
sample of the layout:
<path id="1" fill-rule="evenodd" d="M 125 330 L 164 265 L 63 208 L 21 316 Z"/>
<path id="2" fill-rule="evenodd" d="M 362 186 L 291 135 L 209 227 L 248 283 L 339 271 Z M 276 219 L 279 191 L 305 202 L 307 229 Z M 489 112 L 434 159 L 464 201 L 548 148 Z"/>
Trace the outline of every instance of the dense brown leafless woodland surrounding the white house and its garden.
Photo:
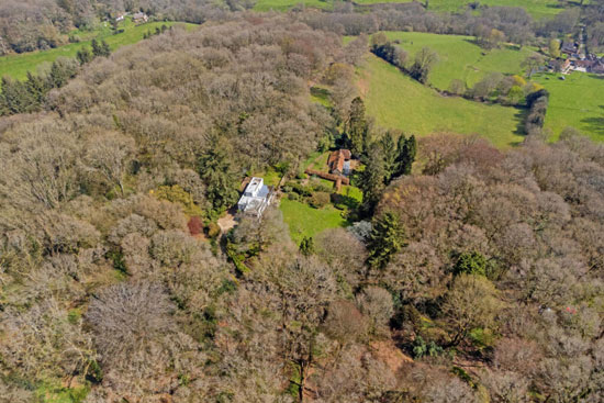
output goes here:
<path id="1" fill-rule="evenodd" d="M 2 117 L 0 401 L 602 402 L 604 147 L 377 127 L 369 40 L 340 34 L 457 31 L 417 7 L 176 27 Z M 519 14 L 467 19 L 546 30 Z M 365 164 L 354 225 L 219 236 L 242 179 L 335 144 Z"/>

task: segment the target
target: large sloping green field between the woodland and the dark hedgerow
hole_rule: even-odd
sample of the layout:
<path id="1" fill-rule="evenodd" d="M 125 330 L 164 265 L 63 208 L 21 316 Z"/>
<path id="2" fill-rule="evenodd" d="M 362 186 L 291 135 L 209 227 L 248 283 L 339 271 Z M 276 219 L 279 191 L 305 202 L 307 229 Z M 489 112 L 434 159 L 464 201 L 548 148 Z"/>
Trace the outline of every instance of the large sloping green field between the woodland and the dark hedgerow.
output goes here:
<path id="1" fill-rule="evenodd" d="M 518 133 L 522 110 L 441 97 L 373 55 L 357 72 L 357 83 L 368 114 L 380 126 L 420 136 L 434 132 L 479 134 L 497 147 L 523 139 Z"/>

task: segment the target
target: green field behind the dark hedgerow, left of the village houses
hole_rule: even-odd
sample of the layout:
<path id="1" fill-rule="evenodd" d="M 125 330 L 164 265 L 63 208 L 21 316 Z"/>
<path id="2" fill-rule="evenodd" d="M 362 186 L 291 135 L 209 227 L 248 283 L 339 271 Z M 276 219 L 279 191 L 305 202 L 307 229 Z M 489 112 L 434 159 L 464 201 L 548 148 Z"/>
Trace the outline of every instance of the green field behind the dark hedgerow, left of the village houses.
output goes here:
<path id="1" fill-rule="evenodd" d="M 432 70 L 429 82 L 441 90 L 448 89 L 454 79 L 463 80 L 471 88 L 493 71 L 519 74 L 521 64 L 533 53 L 528 47 L 518 49 L 516 46 L 485 51 L 473 43 L 472 36 L 420 32 L 385 32 L 385 35 L 391 41 L 400 41 L 410 59 L 423 47 L 436 51 L 439 60 Z"/>

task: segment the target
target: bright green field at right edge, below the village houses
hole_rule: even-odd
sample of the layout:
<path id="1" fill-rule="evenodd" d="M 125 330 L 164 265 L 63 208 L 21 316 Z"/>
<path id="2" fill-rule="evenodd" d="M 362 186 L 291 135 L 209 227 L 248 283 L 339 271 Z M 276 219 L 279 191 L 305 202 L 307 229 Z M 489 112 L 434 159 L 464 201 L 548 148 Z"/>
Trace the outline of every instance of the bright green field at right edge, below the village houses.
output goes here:
<path id="1" fill-rule="evenodd" d="M 546 114 L 547 128 L 558 139 L 564 127 L 572 126 L 596 142 L 604 142 L 604 77 L 571 72 L 566 80 L 560 75 L 534 76 L 550 93 Z"/>

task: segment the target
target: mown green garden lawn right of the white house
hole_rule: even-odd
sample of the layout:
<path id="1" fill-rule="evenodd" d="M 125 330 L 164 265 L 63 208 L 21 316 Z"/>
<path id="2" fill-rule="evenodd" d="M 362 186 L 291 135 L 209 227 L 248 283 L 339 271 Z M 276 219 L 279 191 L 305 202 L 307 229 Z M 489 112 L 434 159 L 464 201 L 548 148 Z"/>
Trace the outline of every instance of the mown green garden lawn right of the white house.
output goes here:
<path id="1" fill-rule="evenodd" d="M 287 198 L 281 199 L 280 203 L 283 221 L 289 225 L 291 238 L 297 244 L 300 244 L 305 236 L 315 236 L 325 230 L 343 227 L 348 224 L 343 219 L 342 211 L 331 204 L 323 209 L 314 209 Z"/>

